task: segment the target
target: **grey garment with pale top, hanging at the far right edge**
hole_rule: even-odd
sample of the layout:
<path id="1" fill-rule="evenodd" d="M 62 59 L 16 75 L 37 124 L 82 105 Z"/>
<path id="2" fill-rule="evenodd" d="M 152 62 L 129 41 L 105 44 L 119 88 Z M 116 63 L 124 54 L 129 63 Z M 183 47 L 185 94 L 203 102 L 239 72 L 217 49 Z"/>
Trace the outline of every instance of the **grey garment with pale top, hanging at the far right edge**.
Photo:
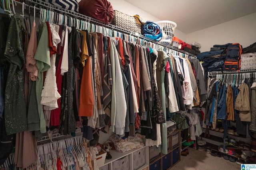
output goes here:
<path id="1" fill-rule="evenodd" d="M 251 86 L 252 96 L 251 96 L 251 116 L 252 122 L 250 123 L 250 131 L 256 132 L 256 82 L 252 83 Z"/>

